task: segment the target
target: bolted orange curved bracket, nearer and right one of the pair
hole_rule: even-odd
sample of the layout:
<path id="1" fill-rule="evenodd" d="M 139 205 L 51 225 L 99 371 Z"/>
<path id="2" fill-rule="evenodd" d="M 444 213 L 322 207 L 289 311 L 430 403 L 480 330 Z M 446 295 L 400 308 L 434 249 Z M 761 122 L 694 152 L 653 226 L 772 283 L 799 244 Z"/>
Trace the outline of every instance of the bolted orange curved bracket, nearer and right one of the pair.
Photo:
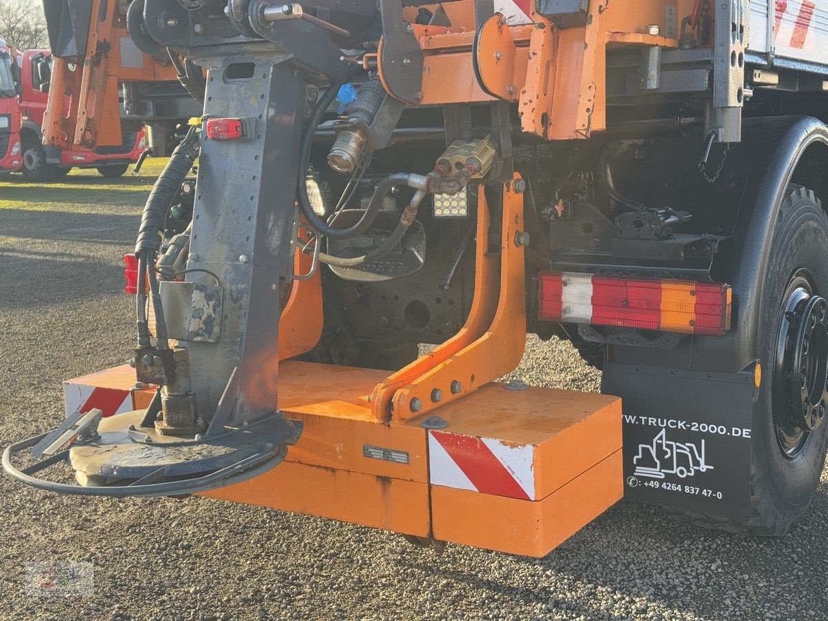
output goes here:
<path id="1" fill-rule="evenodd" d="M 517 234 L 523 230 L 523 196 L 503 186 L 500 290 L 494 318 L 483 335 L 412 380 L 393 398 L 393 418 L 405 421 L 454 401 L 513 371 L 526 345 L 526 266 Z M 475 291 L 476 293 L 476 291 Z"/>

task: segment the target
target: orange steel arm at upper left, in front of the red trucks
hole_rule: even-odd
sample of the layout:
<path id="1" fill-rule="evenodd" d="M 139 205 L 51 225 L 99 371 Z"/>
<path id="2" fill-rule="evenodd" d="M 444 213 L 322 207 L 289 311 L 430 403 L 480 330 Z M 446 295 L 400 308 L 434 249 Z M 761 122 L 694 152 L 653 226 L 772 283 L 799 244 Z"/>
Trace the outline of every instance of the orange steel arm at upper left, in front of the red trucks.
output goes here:
<path id="1" fill-rule="evenodd" d="M 118 12 L 120 2 L 94 0 L 91 15 L 103 19 L 89 21 L 86 55 L 76 64 L 55 58 L 50 93 L 43 119 L 47 144 L 68 151 L 94 149 L 121 144 L 119 84 L 123 82 L 177 81 L 170 60 L 156 60 L 134 48 L 126 23 Z M 121 46 L 131 46 L 129 54 L 141 55 L 141 66 L 121 63 Z"/>

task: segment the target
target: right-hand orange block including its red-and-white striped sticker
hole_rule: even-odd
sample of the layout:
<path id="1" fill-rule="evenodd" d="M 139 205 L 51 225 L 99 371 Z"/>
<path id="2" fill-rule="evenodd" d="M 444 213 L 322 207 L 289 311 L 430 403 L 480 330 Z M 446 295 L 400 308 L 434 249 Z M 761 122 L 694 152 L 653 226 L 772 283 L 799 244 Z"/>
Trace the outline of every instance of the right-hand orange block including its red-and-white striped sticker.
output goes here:
<path id="1" fill-rule="evenodd" d="M 428 432 L 437 539 L 544 556 L 623 495 L 617 397 L 492 383 L 434 415 L 447 423 Z"/>

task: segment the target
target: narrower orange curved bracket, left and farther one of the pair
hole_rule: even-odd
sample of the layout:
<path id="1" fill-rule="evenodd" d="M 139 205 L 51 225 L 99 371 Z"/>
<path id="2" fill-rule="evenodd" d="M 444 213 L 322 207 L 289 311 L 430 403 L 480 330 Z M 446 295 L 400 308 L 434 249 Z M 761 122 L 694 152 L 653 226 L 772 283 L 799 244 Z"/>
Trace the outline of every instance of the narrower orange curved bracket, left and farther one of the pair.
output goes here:
<path id="1" fill-rule="evenodd" d="M 392 400 L 400 388 L 412 383 L 432 368 L 458 354 L 469 344 L 484 335 L 491 325 L 498 305 L 500 265 L 496 257 L 489 254 L 489 204 L 484 192 L 479 192 L 477 201 L 477 232 L 474 253 L 474 299 L 469 318 L 460 331 L 445 343 L 393 373 L 378 383 L 371 395 L 371 409 L 379 420 L 391 418 Z"/>

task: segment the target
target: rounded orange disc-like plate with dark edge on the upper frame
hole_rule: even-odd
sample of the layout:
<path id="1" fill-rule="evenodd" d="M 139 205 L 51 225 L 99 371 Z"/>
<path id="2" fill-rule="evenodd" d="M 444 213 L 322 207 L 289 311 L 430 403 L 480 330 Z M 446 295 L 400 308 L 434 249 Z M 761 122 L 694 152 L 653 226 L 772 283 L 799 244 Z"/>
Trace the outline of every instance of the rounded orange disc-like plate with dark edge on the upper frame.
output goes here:
<path id="1" fill-rule="evenodd" d="M 527 30 L 527 26 L 518 27 L 521 32 Z M 515 30 L 508 26 L 503 14 L 495 13 L 480 26 L 474 46 L 474 66 L 480 84 L 498 99 L 509 102 L 520 97 L 526 84 L 528 61 L 527 47 L 517 48 Z"/>

